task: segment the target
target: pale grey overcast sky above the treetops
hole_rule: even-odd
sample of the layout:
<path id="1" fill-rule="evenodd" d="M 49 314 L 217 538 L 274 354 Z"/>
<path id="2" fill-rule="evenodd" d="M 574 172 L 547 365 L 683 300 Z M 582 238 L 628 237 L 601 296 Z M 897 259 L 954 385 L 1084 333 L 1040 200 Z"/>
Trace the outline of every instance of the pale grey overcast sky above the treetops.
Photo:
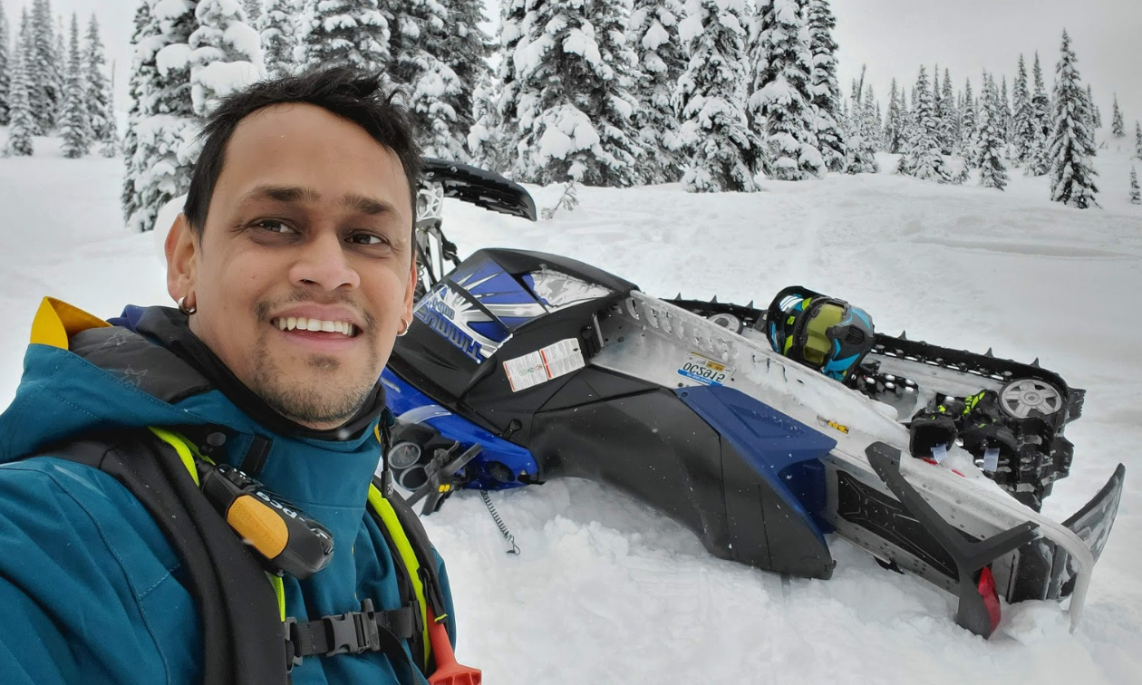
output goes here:
<path id="1" fill-rule="evenodd" d="M 486 0 L 496 6 L 496 0 Z M 13 24 L 31 0 L 0 0 Z M 79 11 L 86 30 L 94 10 L 115 62 L 115 104 L 126 106 L 130 66 L 130 32 L 136 0 L 53 0 L 56 13 Z M 1015 76 L 1020 53 L 1039 51 L 1047 88 L 1054 79 L 1059 43 L 1065 27 L 1078 56 L 1079 73 L 1092 86 L 1095 102 L 1110 124 L 1115 92 L 1127 127 L 1142 119 L 1142 0 L 833 0 L 841 45 L 841 83 L 847 94 L 861 64 L 877 98 L 887 97 L 893 78 L 916 81 L 919 65 L 940 65 L 951 72 L 956 89 L 972 79 L 979 92 L 981 72 Z M 998 80 L 998 79 L 997 79 Z M 1008 83 L 1008 87 L 1011 84 Z"/>

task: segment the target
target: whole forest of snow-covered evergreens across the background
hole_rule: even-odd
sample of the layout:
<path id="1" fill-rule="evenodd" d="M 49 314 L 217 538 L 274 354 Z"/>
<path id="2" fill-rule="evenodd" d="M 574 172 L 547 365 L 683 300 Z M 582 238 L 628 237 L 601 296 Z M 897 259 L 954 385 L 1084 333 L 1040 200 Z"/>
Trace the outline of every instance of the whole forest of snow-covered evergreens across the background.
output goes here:
<path id="1" fill-rule="evenodd" d="M 863 70 L 838 82 L 829 0 L 501 0 L 498 40 L 481 29 L 483 0 L 137 0 L 116 136 L 95 17 L 65 30 L 50 0 L 32 0 L 14 26 L 2 2 L 5 154 L 31 154 L 40 135 L 66 156 L 121 153 L 137 231 L 185 193 L 218 98 L 338 63 L 387 74 L 426 154 L 518 182 L 751 192 L 879 172 L 887 152 L 899 159 L 884 171 L 998 191 L 1018 170 L 1048 175 L 1052 200 L 1097 206 L 1102 113 L 1065 32 L 1051 89 L 1035 53 L 1010 79 L 918 66 L 882 103 Z M 1111 144 L 1131 143 L 1117 96 L 1107 126 Z"/>

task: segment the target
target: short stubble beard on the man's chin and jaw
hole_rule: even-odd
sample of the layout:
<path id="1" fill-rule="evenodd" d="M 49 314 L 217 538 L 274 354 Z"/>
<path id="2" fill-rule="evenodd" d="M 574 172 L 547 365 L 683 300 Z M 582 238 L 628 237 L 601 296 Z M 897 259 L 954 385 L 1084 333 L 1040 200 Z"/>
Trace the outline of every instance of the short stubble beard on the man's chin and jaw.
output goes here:
<path id="1" fill-rule="evenodd" d="M 263 319 L 268 322 L 268 317 L 258 316 L 259 321 Z M 303 426 L 329 427 L 345 424 L 361 410 L 377 385 L 381 366 L 377 320 L 372 315 L 365 314 L 360 332 L 361 342 L 369 349 L 368 372 L 362 370 L 355 378 L 338 378 L 341 360 L 321 354 L 308 355 L 305 358 L 307 372 L 300 378 L 291 378 L 270 352 L 272 332 L 263 329 L 258 336 L 250 380 L 250 389 L 271 409 Z"/>

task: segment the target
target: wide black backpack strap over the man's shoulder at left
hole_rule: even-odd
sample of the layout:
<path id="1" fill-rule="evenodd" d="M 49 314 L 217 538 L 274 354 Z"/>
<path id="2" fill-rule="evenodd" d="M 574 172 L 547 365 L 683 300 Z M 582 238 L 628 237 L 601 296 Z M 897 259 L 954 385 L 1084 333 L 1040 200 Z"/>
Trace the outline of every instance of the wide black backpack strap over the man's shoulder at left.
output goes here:
<path id="1" fill-rule="evenodd" d="M 284 685 L 286 642 L 273 588 L 172 448 L 147 430 L 114 432 L 42 456 L 97 468 L 144 506 L 186 570 L 202 622 L 202 682 Z"/>

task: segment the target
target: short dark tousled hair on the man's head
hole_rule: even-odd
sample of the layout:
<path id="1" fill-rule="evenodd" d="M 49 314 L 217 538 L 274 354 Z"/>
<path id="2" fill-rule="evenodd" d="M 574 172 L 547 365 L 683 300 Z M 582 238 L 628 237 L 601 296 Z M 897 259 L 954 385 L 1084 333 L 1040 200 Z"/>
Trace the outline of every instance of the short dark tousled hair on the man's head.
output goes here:
<path id="1" fill-rule="evenodd" d="M 372 138 L 401 160 L 409 182 L 413 215 L 420 180 L 420 146 L 403 94 L 381 74 L 365 75 L 347 66 L 308 71 L 298 75 L 259 81 L 222 99 L 207 118 L 200 138 L 206 142 L 191 174 L 183 213 L 191 228 L 202 237 L 215 185 L 226 161 L 226 143 L 238 123 L 250 114 L 281 103 L 308 103 L 363 128 Z M 413 224 L 416 216 L 412 217 Z"/>

